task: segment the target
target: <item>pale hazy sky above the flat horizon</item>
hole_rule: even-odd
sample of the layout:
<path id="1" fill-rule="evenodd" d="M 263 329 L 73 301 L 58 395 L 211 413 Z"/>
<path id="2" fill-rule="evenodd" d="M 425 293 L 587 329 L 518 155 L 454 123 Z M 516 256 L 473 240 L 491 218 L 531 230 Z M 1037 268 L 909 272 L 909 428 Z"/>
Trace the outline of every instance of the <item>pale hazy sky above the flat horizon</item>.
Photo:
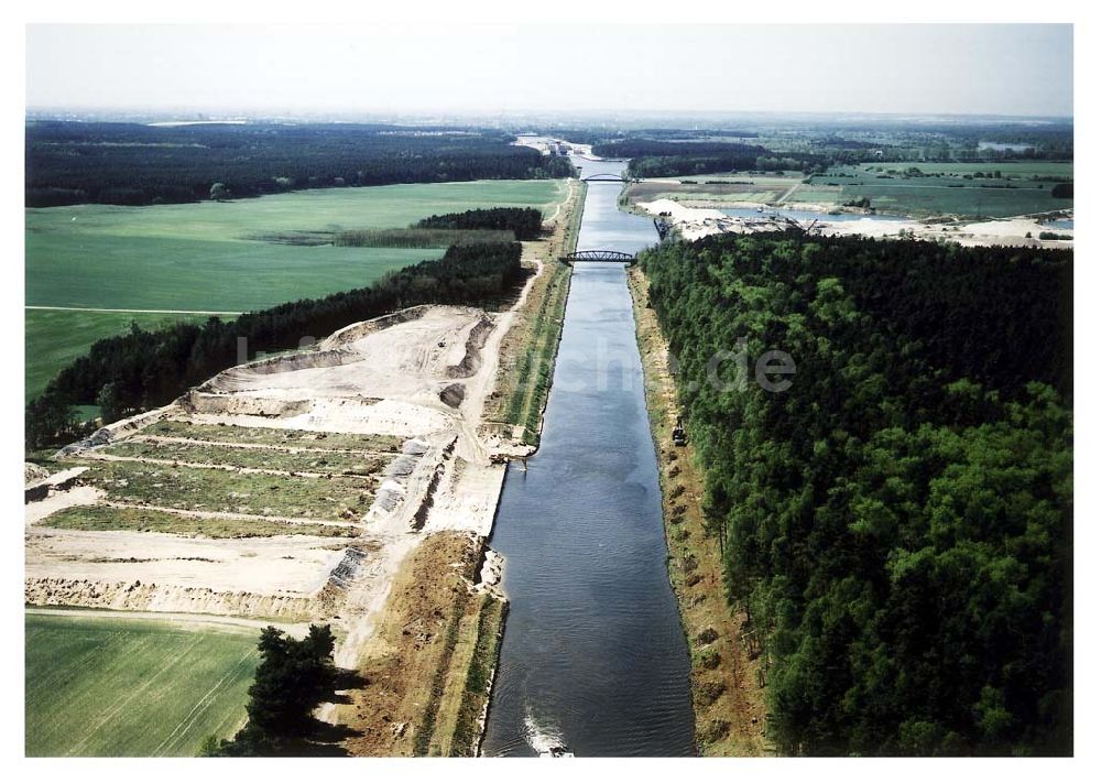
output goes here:
<path id="1" fill-rule="evenodd" d="M 1072 61 L 1070 25 L 31 25 L 26 102 L 1070 116 Z"/>

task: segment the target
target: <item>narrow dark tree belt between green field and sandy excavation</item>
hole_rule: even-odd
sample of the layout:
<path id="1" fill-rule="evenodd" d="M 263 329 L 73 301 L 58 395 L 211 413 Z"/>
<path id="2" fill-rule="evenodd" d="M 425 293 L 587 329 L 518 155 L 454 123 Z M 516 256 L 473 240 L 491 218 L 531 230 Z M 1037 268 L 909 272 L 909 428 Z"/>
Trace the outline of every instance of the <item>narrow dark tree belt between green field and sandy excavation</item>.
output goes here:
<path id="1" fill-rule="evenodd" d="M 248 356 L 297 348 L 358 320 L 418 304 L 492 305 L 523 278 L 516 242 L 448 248 L 436 261 L 392 272 L 377 283 L 319 300 L 246 313 L 231 323 L 176 324 L 95 342 L 26 406 L 26 445 L 40 448 L 78 435 L 74 405 L 98 404 L 105 423 L 164 405 Z"/>

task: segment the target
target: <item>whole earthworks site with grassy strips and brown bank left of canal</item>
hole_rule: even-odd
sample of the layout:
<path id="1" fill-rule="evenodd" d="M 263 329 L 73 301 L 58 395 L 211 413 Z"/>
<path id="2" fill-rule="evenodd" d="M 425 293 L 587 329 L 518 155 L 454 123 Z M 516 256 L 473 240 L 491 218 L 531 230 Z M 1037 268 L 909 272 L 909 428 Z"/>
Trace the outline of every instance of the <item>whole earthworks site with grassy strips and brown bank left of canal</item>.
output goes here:
<path id="1" fill-rule="evenodd" d="M 352 324 L 29 464 L 26 605 L 328 623 L 337 666 L 369 683 L 318 716 L 344 750 L 476 753 L 505 612 L 486 541 L 505 460 L 537 439 L 519 422 L 543 404 L 516 388 L 516 355 L 560 327 L 534 300 L 560 287 L 546 261 L 579 189 L 524 244 L 506 309 Z"/>

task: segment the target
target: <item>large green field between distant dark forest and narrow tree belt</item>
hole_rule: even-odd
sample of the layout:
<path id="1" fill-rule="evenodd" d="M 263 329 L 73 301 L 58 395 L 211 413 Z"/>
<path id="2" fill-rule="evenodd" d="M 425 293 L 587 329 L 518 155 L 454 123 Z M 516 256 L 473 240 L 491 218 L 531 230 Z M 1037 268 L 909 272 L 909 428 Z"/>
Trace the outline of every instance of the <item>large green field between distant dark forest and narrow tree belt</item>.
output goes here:
<path id="1" fill-rule="evenodd" d="M 331 188 L 239 202 L 25 210 L 26 304 L 122 311 L 226 311 L 347 291 L 443 248 L 352 248 L 266 241 L 287 235 L 400 228 L 433 214 L 493 206 L 553 211 L 559 181 Z M 266 238 L 266 239 L 265 239 Z M 139 313 L 25 311 L 26 394 Z"/>

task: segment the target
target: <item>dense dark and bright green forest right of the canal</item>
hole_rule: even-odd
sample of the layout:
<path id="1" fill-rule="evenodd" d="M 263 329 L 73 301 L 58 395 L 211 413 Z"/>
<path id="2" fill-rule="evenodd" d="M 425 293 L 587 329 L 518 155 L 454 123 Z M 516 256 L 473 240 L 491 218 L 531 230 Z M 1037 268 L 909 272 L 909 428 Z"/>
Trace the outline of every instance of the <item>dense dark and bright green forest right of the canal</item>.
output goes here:
<path id="1" fill-rule="evenodd" d="M 641 263 L 777 746 L 1070 753 L 1070 252 L 773 233 Z M 786 391 L 753 382 L 773 349 Z"/>

